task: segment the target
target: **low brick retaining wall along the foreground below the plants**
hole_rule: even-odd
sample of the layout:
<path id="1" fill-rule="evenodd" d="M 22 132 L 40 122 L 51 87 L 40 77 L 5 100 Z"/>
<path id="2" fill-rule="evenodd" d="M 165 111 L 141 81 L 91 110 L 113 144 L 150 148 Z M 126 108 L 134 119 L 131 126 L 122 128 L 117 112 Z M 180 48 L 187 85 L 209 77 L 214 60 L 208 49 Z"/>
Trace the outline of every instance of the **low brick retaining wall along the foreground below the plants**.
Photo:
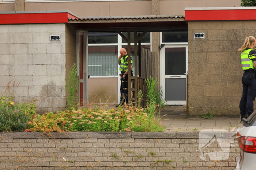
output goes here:
<path id="1" fill-rule="evenodd" d="M 52 135 L 55 140 L 42 133 L 0 133 L 0 170 L 234 170 L 239 155 L 223 132 L 217 137 L 230 150 L 224 161 L 200 158 L 198 132 Z M 219 149 L 215 141 L 202 151 Z"/>

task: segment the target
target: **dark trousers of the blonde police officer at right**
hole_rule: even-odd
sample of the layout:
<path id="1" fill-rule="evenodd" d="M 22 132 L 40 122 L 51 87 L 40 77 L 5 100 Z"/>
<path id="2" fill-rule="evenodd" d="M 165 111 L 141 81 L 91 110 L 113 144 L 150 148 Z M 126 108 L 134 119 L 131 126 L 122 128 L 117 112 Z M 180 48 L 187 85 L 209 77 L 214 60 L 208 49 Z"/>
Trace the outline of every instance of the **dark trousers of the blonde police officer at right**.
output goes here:
<path id="1" fill-rule="evenodd" d="M 246 114 L 249 116 L 253 112 L 253 102 L 256 97 L 256 78 L 248 79 L 249 72 L 245 72 L 242 76 L 243 94 L 240 101 L 240 114 Z"/>

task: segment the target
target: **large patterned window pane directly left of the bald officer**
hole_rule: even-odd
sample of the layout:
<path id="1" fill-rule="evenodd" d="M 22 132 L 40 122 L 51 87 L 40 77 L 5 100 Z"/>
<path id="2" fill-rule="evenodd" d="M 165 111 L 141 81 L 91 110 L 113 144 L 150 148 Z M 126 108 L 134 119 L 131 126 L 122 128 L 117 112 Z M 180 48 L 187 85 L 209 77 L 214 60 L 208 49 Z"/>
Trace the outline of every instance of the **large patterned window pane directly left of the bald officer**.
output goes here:
<path id="1" fill-rule="evenodd" d="M 90 76 L 118 75 L 117 46 L 89 46 L 88 72 Z"/>

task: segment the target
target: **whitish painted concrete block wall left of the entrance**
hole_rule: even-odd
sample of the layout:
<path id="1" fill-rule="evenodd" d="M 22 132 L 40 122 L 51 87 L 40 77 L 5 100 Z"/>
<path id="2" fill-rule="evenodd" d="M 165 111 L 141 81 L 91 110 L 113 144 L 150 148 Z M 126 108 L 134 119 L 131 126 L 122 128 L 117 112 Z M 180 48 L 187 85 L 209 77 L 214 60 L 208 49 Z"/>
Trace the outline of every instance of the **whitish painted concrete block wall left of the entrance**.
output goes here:
<path id="1" fill-rule="evenodd" d="M 15 101 L 42 94 L 38 111 L 64 107 L 66 75 L 65 24 L 0 25 L 0 88 L 12 80 L 20 86 Z M 50 41 L 60 35 L 60 41 Z M 76 57 L 76 56 L 75 56 Z M 31 100 L 30 100 L 31 101 Z"/>

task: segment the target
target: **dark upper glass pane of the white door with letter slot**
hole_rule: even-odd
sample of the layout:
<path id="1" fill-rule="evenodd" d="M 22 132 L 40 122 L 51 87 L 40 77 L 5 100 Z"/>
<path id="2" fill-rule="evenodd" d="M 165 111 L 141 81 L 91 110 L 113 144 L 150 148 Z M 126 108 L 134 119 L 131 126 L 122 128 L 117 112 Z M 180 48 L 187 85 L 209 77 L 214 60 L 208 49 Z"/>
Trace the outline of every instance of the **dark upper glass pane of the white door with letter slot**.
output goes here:
<path id="1" fill-rule="evenodd" d="M 165 48 L 165 75 L 186 73 L 186 48 Z"/>

